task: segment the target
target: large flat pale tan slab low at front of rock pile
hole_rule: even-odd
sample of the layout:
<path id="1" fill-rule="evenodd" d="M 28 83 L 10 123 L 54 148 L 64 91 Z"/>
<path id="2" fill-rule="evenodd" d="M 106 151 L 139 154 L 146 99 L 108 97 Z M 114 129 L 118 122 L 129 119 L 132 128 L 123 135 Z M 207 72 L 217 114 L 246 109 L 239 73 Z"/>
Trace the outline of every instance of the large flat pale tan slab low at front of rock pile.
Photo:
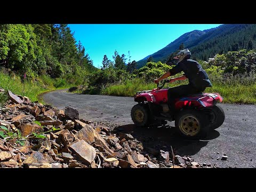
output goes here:
<path id="1" fill-rule="evenodd" d="M 85 165 L 91 165 L 96 156 L 94 147 L 80 140 L 69 147 Z"/>

